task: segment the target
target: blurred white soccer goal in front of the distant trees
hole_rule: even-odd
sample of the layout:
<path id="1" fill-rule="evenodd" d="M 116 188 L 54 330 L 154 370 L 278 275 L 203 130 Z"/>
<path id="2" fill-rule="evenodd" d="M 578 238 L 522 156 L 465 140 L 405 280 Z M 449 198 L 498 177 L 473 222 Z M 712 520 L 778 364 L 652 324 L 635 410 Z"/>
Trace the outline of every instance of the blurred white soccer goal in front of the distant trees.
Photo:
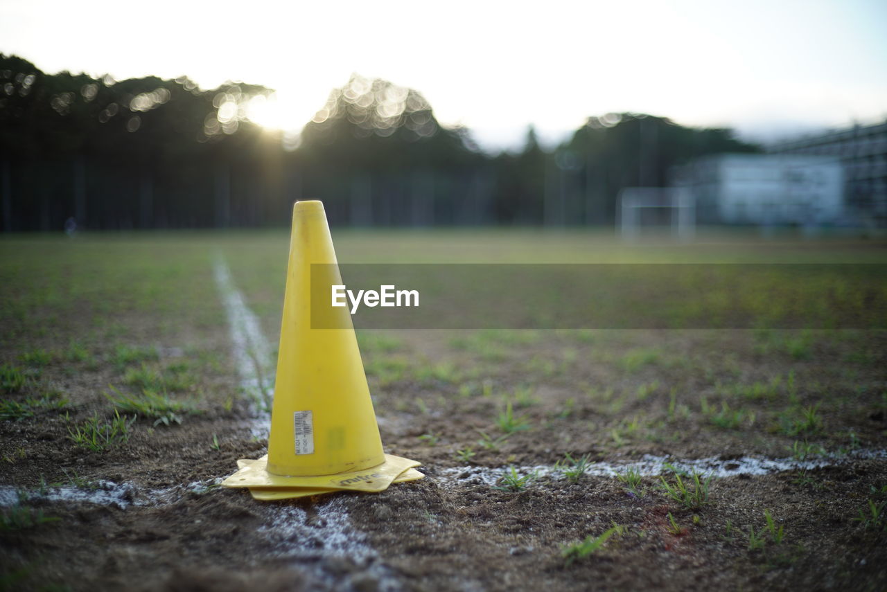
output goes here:
<path id="1" fill-rule="evenodd" d="M 679 240 L 695 236 L 695 200 L 681 187 L 626 187 L 619 191 L 618 212 L 619 231 L 627 240 L 651 228 L 668 228 Z"/>

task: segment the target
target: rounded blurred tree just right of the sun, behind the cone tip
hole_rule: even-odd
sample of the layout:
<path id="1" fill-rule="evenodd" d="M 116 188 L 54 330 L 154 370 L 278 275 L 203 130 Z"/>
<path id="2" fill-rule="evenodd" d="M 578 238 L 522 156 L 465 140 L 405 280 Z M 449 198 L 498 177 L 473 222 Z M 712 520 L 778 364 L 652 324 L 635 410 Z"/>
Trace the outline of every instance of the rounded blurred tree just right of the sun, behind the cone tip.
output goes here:
<path id="1" fill-rule="evenodd" d="M 305 126 L 299 152 L 310 192 L 341 219 L 426 225 L 479 199 L 457 189 L 484 160 L 472 146 L 418 91 L 355 74 Z"/>

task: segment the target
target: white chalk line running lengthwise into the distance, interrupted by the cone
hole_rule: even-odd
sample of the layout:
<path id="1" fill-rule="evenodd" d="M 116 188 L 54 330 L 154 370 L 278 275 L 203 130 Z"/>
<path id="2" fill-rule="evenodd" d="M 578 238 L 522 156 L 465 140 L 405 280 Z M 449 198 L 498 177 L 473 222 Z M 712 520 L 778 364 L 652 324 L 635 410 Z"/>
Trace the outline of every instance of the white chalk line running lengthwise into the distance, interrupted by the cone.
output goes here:
<path id="1" fill-rule="evenodd" d="M 270 409 L 273 390 L 266 377 L 271 376 L 271 347 L 262 333 L 258 316 L 247 307 L 231 277 L 231 271 L 221 255 L 213 262 L 216 285 L 224 302 L 231 331 L 234 361 L 240 377 L 240 386 L 256 401 Z M 261 424 L 261 425 L 259 425 Z M 261 413 L 252 426 L 254 435 L 268 435 L 269 416 Z M 333 496 L 315 507 L 317 517 L 311 520 L 298 506 L 259 503 L 268 518 L 262 532 L 275 543 L 281 557 L 303 558 L 347 557 L 363 570 L 360 577 L 374 580 L 376 589 L 391 591 L 399 588 L 387 567 L 366 542 L 365 534 L 357 531 L 348 518 L 348 508 L 341 496 Z M 341 582 L 330 581 L 323 571 L 323 561 L 315 565 L 313 573 L 320 580 L 342 588 Z M 350 587 L 349 582 L 344 585 Z"/>

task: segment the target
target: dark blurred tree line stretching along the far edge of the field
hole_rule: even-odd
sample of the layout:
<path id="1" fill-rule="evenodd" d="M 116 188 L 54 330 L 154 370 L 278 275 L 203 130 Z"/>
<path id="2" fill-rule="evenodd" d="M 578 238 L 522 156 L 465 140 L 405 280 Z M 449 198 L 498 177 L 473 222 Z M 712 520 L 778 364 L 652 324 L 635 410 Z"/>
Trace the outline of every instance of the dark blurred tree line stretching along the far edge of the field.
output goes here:
<path id="1" fill-rule="evenodd" d="M 357 75 L 298 137 L 249 120 L 261 85 L 45 74 L 0 54 L 0 86 L 4 231 L 285 225 L 295 199 L 354 226 L 608 224 L 624 187 L 758 150 L 729 129 L 608 113 L 551 150 L 530 128 L 521 151 L 491 155 L 419 91 Z"/>

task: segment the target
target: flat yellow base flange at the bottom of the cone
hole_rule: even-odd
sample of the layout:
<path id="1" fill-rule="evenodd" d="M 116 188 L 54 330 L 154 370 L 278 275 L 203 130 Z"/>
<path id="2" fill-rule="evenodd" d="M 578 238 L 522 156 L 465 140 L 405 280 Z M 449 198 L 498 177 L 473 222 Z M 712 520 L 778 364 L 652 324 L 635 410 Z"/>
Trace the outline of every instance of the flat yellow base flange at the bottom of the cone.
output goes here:
<path id="1" fill-rule="evenodd" d="M 408 469 L 420 465 L 418 461 L 403 456 L 385 455 L 385 462 L 363 471 L 340 472 L 334 475 L 312 477 L 286 477 L 268 472 L 268 455 L 255 461 L 238 461 L 239 469 L 222 481 L 224 487 L 314 488 L 380 492 Z M 418 472 L 418 471 L 417 471 Z M 421 473 L 420 473 L 421 474 Z M 326 492 L 325 492 L 326 493 Z"/>

